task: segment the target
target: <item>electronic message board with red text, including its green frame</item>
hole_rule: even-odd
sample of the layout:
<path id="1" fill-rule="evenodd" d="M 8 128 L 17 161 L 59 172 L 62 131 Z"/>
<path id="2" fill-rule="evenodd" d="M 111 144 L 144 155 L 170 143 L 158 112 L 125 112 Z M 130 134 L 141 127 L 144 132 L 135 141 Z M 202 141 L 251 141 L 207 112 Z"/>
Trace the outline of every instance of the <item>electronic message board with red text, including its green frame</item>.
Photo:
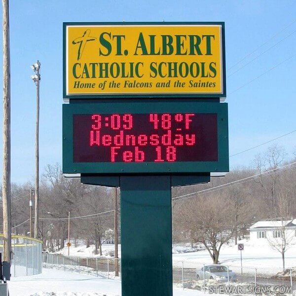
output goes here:
<path id="1" fill-rule="evenodd" d="M 63 106 L 64 173 L 227 171 L 226 104 L 110 105 Z"/>

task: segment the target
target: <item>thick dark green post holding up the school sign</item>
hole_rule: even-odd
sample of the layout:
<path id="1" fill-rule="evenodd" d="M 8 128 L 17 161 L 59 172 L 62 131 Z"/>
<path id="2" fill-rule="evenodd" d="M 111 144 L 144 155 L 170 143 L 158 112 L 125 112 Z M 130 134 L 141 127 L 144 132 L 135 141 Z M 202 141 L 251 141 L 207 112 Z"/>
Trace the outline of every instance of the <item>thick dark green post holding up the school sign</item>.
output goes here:
<path id="1" fill-rule="evenodd" d="M 122 295 L 172 296 L 170 176 L 120 181 Z"/>

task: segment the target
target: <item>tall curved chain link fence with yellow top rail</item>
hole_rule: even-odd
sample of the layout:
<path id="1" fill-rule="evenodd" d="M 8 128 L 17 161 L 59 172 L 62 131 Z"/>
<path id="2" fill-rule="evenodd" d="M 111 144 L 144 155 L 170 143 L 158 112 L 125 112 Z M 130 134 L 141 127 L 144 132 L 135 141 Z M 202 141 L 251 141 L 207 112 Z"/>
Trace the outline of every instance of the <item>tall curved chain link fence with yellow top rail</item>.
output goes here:
<path id="1" fill-rule="evenodd" d="M 34 275 L 42 272 L 42 241 L 22 235 L 11 236 L 11 276 Z M 0 234 L 0 252 L 3 251 L 3 234 Z"/>

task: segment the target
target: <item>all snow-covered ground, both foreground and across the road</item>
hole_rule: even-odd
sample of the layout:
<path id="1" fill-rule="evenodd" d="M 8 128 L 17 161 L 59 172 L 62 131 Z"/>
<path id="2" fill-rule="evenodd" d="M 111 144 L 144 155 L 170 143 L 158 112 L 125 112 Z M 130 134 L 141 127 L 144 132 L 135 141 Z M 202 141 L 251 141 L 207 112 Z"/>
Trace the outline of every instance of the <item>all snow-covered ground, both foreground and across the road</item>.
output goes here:
<path id="1" fill-rule="evenodd" d="M 282 259 L 279 252 L 272 250 L 269 246 L 252 246 L 248 241 L 240 241 L 240 243 L 245 244 L 245 250 L 242 252 L 244 272 L 249 270 L 252 273 L 257 268 L 258 273 L 270 276 L 281 271 Z M 202 264 L 212 263 L 206 250 L 197 249 L 199 251 L 195 251 L 189 245 L 174 246 L 174 268 L 182 266 L 182 262 L 185 268 L 191 268 L 191 270 L 200 268 Z M 114 245 L 103 245 L 102 256 L 112 258 L 113 252 Z M 57 253 L 68 255 L 68 248 L 66 247 Z M 86 248 L 82 241 L 79 242 L 77 247 L 72 245 L 70 256 L 84 258 L 100 257 L 99 255 L 94 255 L 94 246 Z M 237 246 L 224 246 L 220 254 L 220 263 L 228 265 L 239 274 L 241 263 L 240 251 L 237 250 Z M 296 246 L 290 247 L 286 252 L 286 267 L 293 266 L 296 266 Z M 10 296 L 121 296 L 120 280 L 111 275 L 112 279 L 108 279 L 104 273 L 97 277 L 95 274 L 87 275 L 43 268 L 43 273 L 39 275 L 12 278 L 8 287 Z M 185 287 L 189 284 L 190 281 L 186 282 Z M 193 284 L 196 285 L 198 283 L 195 281 Z M 205 294 L 197 290 L 183 290 L 181 283 L 174 284 L 174 296 L 190 295 L 203 296 Z"/>

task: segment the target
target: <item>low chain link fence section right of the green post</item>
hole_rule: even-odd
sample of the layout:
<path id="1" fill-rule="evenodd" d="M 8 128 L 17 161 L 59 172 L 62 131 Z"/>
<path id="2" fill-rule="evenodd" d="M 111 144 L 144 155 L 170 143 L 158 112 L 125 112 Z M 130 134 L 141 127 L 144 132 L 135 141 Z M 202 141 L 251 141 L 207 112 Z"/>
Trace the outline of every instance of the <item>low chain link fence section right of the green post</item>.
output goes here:
<path id="1" fill-rule="evenodd" d="M 179 288 L 197 290 L 204 294 L 296 296 L 296 269 L 287 268 L 283 272 L 274 266 L 251 268 L 210 265 L 175 261 L 173 281 Z"/>

